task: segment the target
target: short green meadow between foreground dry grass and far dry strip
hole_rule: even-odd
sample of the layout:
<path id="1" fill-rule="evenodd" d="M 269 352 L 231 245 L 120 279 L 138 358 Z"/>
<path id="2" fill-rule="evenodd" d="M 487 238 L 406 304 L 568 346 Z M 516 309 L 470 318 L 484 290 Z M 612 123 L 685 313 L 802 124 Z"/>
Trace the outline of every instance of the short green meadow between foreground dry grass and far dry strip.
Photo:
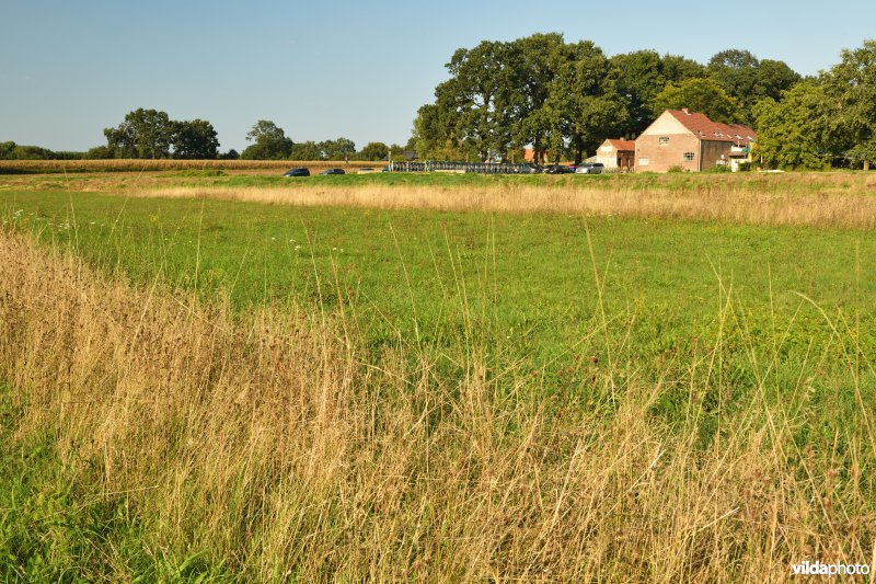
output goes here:
<path id="1" fill-rule="evenodd" d="M 64 191 L 2 201 L 5 225 L 140 285 L 221 296 L 238 311 L 342 313 L 374 360 L 399 344 L 451 359 L 476 346 L 556 378 L 616 346 L 658 375 L 724 327 L 739 359 L 781 354 L 798 377 L 835 360 L 838 323 L 860 331 L 864 353 L 876 345 L 866 231 Z"/>

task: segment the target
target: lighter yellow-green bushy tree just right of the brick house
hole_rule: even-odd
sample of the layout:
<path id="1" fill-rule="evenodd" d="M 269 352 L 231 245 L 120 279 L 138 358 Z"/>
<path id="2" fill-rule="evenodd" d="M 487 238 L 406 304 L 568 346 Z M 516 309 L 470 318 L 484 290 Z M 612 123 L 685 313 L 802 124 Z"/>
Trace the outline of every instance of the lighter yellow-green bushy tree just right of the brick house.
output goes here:
<path id="1" fill-rule="evenodd" d="M 768 168 L 788 170 L 829 165 L 830 107 L 823 87 L 814 80 L 797 83 L 781 102 L 772 98 L 758 102 L 756 158 Z"/>

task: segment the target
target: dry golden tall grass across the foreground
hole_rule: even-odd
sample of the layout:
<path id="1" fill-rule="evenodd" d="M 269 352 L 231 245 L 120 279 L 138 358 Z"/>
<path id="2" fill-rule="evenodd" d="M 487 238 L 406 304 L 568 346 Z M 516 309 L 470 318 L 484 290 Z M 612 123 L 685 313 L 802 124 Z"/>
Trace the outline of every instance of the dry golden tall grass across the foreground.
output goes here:
<path id="1" fill-rule="evenodd" d="M 240 322 L 0 236 L 20 434 L 56 428 L 155 553 L 206 548 L 258 580 L 764 581 L 804 559 L 869 561 L 868 412 L 845 448 L 800 451 L 789 403 L 766 398 L 789 388 L 763 376 L 698 447 L 721 351 L 691 363 L 690 415 L 670 430 L 649 413 L 665 388 L 635 374 L 612 388 L 595 366 L 593 410 L 533 403 L 532 379 L 488 375 L 477 347 L 453 385 L 401 353 L 365 366 L 349 322 Z"/>

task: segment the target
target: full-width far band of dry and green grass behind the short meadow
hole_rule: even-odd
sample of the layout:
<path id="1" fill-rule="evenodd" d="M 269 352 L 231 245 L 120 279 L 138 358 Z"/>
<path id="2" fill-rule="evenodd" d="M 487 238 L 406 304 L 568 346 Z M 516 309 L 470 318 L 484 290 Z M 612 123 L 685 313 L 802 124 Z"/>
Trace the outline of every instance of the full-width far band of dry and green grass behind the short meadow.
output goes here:
<path id="1" fill-rule="evenodd" d="M 95 192 L 345 208 L 433 209 L 876 227 L 866 173 L 480 175 L 371 173 L 284 179 L 277 170 L 183 169 L 8 176 L 1 191 Z"/>

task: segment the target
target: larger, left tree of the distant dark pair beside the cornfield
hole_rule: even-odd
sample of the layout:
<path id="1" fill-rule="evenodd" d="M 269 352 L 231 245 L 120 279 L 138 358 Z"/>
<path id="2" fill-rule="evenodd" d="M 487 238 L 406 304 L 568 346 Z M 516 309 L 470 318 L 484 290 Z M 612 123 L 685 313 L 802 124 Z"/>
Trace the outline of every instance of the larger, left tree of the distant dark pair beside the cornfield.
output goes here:
<path id="1" fill-rule="evenodd" d="M 114 158 L 169 158 L 174 129 L 165 112 L 140 107 L 103 133 Z"/>

